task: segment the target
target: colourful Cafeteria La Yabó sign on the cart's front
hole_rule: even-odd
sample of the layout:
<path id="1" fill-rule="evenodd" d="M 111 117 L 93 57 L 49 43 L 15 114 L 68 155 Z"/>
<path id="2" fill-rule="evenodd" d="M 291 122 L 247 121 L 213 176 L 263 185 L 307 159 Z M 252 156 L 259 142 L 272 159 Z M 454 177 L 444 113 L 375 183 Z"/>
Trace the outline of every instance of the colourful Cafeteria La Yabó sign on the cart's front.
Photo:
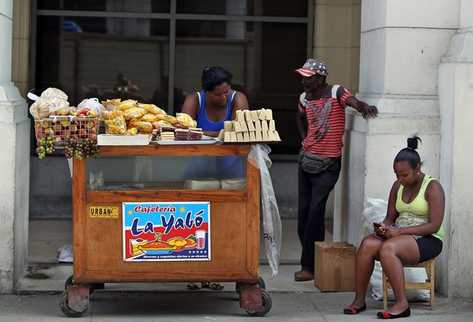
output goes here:
<path id="1" fill-rule="evenodd" d="M 209 261 L 209 202 L 124 202 L 127 262 Z"/>

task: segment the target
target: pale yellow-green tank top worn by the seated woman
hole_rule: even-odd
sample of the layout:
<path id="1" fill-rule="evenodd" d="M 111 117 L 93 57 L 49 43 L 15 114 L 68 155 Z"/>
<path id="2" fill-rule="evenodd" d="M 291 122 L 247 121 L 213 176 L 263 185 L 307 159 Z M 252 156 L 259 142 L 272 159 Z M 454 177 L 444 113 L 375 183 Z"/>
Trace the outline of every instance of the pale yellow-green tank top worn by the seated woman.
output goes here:
<path id="1" fill-rule="evenodd" d="M 419 193 L 410 203 L 405 203 L 402 200 L 404 186 L 399 186 L 396 198 L 396 211 L 399 213 L 399 217 L 396 219 L 397 225 L 400 227 L 411 227 L 422 225 L 428 222 L 429 204 L 427 200 L 425 200 L 425 191 L 432 180 L 435 180 L 435 178 L 424 175 L 424 180 L 422 181 Z M 438 239 L 443 240 L 445 235 L 443 226 L 440 226 L 439 230 L 433 235 Z"/>

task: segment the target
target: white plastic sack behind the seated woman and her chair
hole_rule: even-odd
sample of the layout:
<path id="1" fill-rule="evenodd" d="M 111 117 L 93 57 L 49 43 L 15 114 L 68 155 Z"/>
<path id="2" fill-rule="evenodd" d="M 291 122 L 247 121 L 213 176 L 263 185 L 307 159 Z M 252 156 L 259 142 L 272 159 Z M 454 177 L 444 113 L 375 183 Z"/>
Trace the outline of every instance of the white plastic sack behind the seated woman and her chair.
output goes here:
<path id="1" fill-rule="evenodd" d="M 363 233 L 368 235 L 373 233 L 373 223 L 382 222 L 386 217 L 388 203 L 383 199 L 368 199 L 367 207 L 362 214 Z M 427 274 L 422 267 L 404 268 L 404 276 L 407 282 L 425 282 Z M 370 278 L 371 297 L 375 300 L 383 299 L 383 278 L 381 263 L 376 261 L 373 274 Z M 427 290 L 407 290 L 406 296 L 409 301 L 428 301 L 429 291 Z M 389 290 L 388 299 L 393 300 L 394 294 Z"/>

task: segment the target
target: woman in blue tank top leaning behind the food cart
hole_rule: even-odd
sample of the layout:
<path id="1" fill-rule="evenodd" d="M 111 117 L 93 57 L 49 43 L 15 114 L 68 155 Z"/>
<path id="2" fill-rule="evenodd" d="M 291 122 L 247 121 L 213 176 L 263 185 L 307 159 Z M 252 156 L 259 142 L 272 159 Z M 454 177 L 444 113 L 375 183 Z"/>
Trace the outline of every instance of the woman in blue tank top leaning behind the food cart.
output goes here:
<path id="1" fill-rule="evenodd" d="M 186 97 L 182 112 L 197 120 L 205 135 L 216 137 L 225 121 L 235 118 L 237 110 L 248 109 L 245 94 L 231 88 L 232 74 L 222 67 L 206 67 L 202 71 L 202 90 Z M 215 167 L 209 160 L 194 162 L 199 177 L 237 178 L 243 176 L 243 162 L 238 157 L 220 157 Z M 216 170 L 217 173 L 212 173 Z"/>

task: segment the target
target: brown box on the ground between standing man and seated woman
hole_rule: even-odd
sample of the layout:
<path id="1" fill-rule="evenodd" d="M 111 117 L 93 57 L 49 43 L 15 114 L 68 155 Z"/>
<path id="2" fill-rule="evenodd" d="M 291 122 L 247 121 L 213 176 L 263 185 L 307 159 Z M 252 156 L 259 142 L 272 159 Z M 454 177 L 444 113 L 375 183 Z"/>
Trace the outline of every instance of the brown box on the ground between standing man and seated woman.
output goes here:
<path id="1" fill-rule="evenodd" d="M 345 242 L 315 242 L 315 287 L 321 291 L 354 291 L 355 254 L 355 247 Z"/>

